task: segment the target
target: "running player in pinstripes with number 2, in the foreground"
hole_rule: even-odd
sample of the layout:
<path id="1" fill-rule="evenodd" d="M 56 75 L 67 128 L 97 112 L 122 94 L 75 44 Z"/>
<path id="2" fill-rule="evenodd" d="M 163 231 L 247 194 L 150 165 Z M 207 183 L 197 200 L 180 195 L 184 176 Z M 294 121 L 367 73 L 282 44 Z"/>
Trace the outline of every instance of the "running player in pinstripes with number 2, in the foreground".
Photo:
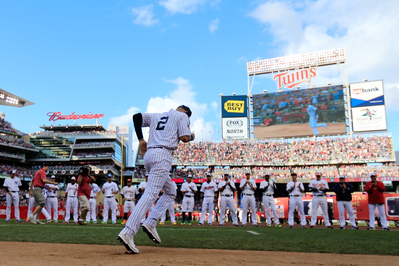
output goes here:
<path id="1" fill-rule="evenodd" d="M 162 189 L 164 194 L 142 224 L 142 229 L 151 240 L 157 243 L 161 242 L 156 232 L 156 224 L 170 202 L 176 198 L 172 179 L 168 177 L 172 167 L 173 151 L 177 149 L 180 141 L 187 143 L 194 140 L 195 137 L 194 133 L 190 131 L 190 116 L 191 110 L 185 105 L 180 105 L 176 110 L 170 109 L 165 113 L 137 113 L 133 115 L 140 153 L 144 156 L 144 166 L 149 171 L 149 176 L 144 194 L 128 218 L 125 228 L 117 237 L 125 248 L 132 253 L 139 252 L 134 245 L 133 237 L 138 231 L 140 221 L 148 208 L 154 205 Z M 144 141 L 142 127 L 150 127 L 148 144 Z"/>

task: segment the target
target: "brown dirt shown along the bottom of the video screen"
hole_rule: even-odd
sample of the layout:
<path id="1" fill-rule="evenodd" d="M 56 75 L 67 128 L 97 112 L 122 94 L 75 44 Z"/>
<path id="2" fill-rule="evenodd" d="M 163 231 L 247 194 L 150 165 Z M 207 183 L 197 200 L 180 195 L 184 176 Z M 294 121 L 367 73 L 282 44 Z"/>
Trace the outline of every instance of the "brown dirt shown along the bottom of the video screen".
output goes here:
<path id="1" fill-rule="evenodd" d="M 320 134 L 336 134 L 346 132 L 346 127 L 344 122 L 327 123 L 327 128 L 318 127 L 317 130 Z M 269 127 L 261 127 L 256 125 L 254 126 L 254 133 L 255 138 L 257 139 L 313 135 L 313 131 L 310 129 L 309 123 L 271 125 Z"/>

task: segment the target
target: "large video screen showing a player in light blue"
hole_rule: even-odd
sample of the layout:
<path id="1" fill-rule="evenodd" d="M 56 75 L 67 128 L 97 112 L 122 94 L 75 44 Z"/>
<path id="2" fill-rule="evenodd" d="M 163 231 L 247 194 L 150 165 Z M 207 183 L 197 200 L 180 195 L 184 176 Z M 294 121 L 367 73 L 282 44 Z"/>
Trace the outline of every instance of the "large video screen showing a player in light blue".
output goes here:
<path id="1" fill-rule="evenodd" d="M 255 139 L 346 133 L 343 86 L 253 95 Z"/>

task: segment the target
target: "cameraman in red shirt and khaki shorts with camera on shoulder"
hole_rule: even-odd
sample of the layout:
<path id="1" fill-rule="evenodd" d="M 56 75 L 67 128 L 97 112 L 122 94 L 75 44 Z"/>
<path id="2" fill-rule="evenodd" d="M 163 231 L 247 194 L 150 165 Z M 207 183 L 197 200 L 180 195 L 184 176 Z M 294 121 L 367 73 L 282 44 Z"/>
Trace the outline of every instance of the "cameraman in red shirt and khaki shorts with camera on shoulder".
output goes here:
<path id="1" fill-rule="evenodd" d="M 79 200 L 81 212 L 78 224 L 86 225 L 84 218 L 86 217 L 87 211 L 90 210 L 90 193 L 91 184 L 96 181 L 96 179 L 90 175 L 90 167 L 81 167 L 79 172 L 79 177 L 77 178 L 77 199 Z"/>

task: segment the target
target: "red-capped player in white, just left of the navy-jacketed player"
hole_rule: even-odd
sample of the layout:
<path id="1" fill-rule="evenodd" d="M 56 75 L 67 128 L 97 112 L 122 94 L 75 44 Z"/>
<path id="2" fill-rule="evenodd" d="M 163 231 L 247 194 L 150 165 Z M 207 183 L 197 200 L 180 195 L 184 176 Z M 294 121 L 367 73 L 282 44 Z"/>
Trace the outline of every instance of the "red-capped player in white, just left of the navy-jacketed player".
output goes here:
<path id="1" fill-rule="evenodd" d="M 314 228 L 316 226 L 317 221 L 317 209 L 322 208 L 324 225 L 327 228 L 334 228 L 330 224 L 330 218 L 328 217 L 328 203 L 326 199 L 326 191 L 328 191 L 328 183 L 322 178 L 322 173 L 316 173 L 316 179 L 312 179 L 309 183 L 309 190 L 312 191 L 313 199 L 312 199 L 312 216 L 310 218 L 310 228 Z"/>

